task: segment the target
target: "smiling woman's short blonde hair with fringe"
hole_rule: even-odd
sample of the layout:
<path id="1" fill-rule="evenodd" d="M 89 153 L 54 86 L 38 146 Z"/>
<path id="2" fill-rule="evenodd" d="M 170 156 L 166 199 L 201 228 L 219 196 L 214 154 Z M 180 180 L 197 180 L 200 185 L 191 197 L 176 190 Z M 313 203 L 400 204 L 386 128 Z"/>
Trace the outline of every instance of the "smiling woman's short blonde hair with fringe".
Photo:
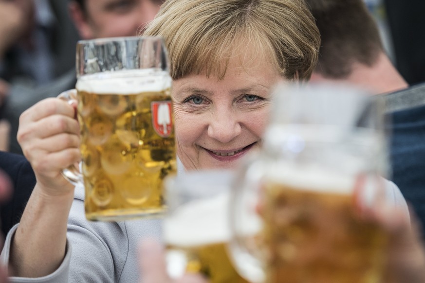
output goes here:
<path id="1" fill-rule="evenodd" d="M 287 79 L 308 80 L 319 32 L 303 0 L 167 0 L 144 35 L 161 35 L 174 80 L 205 72 L 222 79 L 249 45 Z"/>

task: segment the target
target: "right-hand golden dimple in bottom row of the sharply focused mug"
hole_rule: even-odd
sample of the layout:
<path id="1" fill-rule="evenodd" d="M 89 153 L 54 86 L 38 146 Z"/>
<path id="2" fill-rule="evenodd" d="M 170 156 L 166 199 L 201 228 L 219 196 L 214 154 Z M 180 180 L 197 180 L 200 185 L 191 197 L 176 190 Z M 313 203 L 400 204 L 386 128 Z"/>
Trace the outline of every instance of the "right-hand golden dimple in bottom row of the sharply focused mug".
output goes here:
<path id="1" fill-rule="evenodd" d="M 138 171 L 126 176 L 120 192 L 129 204 L 140 205 L 148 200 L 155 186 L 154 178 L 145 176 L 144 172 Z"/>

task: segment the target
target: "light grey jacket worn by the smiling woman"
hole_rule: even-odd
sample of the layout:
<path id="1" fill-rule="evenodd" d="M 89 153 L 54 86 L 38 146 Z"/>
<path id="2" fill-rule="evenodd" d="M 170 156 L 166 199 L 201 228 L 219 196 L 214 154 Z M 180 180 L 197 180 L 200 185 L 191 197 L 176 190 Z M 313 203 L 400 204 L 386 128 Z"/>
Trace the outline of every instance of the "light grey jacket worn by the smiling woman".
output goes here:
<path id="1" fill-rule="evenodd" d="M 390 203 L 407 210 L 398 187 L 387 181 Z M 11 240 L 18 225 L 6 237 L 1 261 L 7 264 Z M 139 279 L 136 249 L 141 239 L 161 238 L 161 220 L 90 222 L 84 214 L 84 188 L 76 187 L 68 220 L 67 252 L 59 268 L 42 278 L 10 278 L 22 283 L 135 283 Z"/>

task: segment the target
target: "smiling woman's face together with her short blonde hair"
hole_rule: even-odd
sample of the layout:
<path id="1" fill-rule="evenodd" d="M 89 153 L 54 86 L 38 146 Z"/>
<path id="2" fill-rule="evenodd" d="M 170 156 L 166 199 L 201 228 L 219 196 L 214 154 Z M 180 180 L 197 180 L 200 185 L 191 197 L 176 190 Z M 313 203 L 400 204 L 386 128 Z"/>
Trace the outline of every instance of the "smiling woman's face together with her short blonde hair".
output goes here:
<path id="1" fill-rule="evenodd" d="M 309 79 L 319 46 L 297 0 L 169 0 L 145 35 L 166 39 L 186 170 L 234 167 L 258 148 L 270 88 Z"/>

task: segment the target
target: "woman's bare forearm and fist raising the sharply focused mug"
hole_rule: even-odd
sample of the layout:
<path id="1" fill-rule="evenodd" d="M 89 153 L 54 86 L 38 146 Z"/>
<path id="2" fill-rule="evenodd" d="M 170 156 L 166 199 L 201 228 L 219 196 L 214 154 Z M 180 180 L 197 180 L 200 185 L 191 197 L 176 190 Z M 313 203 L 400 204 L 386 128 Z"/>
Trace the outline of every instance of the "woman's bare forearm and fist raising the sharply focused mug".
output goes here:
<path id="1" fill-rule="evenodd" d="M 80 160 L 74 116 L 75 105 L 58 98 L 42 100 L 20 116 L 18 141 L 37 183 L 13 237 L 9 258 L 13 276 L 46 276 L 65 256 L 74 186 L 61 171 Z"/>

